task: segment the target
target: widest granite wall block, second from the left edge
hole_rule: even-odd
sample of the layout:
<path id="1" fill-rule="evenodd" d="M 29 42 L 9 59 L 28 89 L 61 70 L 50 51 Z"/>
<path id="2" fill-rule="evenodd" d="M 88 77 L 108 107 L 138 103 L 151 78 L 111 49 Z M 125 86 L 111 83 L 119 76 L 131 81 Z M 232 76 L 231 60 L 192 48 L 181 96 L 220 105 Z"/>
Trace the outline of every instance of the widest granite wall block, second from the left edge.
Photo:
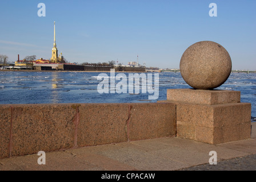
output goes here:
<path id="1" fill-rule="evenodd" d="M 13 105 L 10 155 L 37 154 L 74 146 L 71 104 Z"/>

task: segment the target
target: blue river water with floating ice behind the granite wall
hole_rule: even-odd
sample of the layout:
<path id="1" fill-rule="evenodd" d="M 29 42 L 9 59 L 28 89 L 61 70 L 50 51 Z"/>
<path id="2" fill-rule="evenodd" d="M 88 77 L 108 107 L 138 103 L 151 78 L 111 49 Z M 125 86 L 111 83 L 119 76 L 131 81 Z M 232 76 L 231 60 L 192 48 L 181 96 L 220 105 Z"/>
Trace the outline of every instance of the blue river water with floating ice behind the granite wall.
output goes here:
<path id="1" fill-rule="evenodd" d="M 159 97 L 149 100 L 152 93 L 98 93 L 96 72 L 0 72 L 0 104 L 50 103 L 111 103 L 157 102 L 166 100 L 167 89 L 191 88 L 180 73 L 159 74 Z M 110 76 L 110 73 L 106 73 Z M 115 73 L 117 75 L 118 73 Z M 146 75 L 148 73 L 145 73 Z M 153 84 L 154 84 L 154 73 Z M 127 76 L 129 73 L 125 73 Z M 119 81 L 115 81 L 118 84 Z M 128 86 L 127 86 L 128 88 Z M 154 88 L 154 85 L 153 85 Z M 251 115 L 256 117 L 256 74 L 231 73 L 217 89 L 241 91 L 241 102 L 251 103 Z"/>

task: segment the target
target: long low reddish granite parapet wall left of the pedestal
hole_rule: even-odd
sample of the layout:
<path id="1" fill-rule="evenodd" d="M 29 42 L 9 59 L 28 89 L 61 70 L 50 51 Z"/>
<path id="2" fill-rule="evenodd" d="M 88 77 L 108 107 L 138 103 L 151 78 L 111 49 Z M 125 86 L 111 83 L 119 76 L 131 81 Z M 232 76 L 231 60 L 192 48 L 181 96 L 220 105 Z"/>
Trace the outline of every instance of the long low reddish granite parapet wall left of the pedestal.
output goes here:
<path id="1" fill-rule="evenodd" d="M 176 135 L 172 103 L 0 105 L 0 110 L 0 158 Z"/>

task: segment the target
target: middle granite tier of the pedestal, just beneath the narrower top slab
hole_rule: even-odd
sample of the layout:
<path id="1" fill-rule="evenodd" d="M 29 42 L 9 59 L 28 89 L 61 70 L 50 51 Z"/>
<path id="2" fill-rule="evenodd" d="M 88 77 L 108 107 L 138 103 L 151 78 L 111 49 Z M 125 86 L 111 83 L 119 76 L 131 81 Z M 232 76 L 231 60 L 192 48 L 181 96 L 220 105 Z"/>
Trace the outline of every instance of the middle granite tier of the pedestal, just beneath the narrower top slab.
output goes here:
<path id="1" fill-rule="evenodd" d="M 249 123 L 251 104 L 200 105 L 177 103 L 177 121 L 203 127 Z"/>

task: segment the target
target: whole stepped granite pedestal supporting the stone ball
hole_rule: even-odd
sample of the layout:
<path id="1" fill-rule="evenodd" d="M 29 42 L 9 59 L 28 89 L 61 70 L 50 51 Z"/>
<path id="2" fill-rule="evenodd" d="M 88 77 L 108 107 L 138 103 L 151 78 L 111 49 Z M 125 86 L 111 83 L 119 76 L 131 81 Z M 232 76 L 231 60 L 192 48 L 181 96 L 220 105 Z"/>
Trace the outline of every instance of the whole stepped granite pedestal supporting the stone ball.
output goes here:
<path id="1" fill-rule="evenodd" d="M 251 104 L 240 102 L 239 91 L 169 89 L 167 102 L 177 106 L 177 137 L 209 144 L 251 138 Z"/>

